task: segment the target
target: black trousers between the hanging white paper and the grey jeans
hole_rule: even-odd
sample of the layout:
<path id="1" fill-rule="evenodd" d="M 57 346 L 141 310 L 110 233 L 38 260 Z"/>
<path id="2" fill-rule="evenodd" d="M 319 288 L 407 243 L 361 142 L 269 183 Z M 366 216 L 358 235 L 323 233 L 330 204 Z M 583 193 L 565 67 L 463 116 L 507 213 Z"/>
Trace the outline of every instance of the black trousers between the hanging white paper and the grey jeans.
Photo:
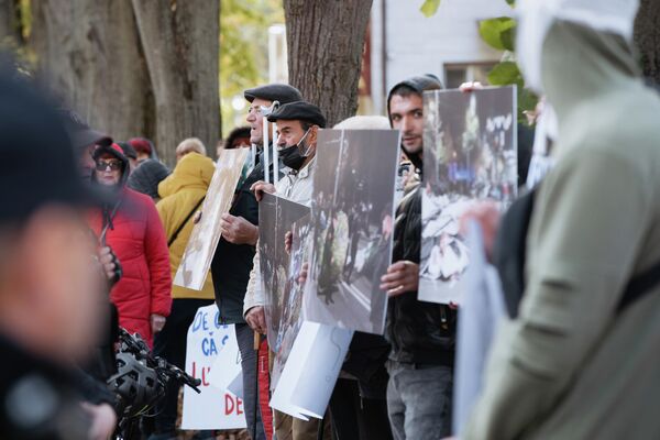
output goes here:
<path id="1" fill-rule="evenodd" d="M 387 402 L 360 397 L 358 381 L 337 381 L 330 415 L 337 440 L 392 440 Z"/>

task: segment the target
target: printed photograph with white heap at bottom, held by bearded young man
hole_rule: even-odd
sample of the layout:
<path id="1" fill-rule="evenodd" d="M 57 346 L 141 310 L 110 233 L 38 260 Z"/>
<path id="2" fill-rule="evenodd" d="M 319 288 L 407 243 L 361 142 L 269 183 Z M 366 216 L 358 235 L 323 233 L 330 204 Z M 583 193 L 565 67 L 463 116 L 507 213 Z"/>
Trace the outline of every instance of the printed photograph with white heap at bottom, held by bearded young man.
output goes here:
<path id="1" fill-rule="evenodd" d="M 424 94 L 424 193 L 418 299 L 460 302 L 470 255 L 460 218 L 477 200 L 517 196 L 516 88 Z"/>

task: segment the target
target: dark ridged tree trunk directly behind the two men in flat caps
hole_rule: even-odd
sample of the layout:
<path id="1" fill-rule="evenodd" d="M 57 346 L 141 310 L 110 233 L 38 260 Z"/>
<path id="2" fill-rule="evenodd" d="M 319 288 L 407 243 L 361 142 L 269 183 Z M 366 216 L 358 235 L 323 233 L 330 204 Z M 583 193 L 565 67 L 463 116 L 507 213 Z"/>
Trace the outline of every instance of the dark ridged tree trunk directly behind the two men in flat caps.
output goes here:
<path id="1" fill-rule="evenodd" d="M 319 106 L 329 127 L 358 110 L 372 0 L 284 0 L 289 82 Z"/>

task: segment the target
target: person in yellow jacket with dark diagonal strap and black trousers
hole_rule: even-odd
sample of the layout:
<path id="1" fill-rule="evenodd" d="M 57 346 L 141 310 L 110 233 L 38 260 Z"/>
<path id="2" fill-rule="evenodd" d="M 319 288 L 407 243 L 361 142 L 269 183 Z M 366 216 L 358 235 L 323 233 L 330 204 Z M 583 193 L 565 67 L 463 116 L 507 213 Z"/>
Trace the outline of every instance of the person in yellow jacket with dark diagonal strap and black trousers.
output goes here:
<path id="1" fill-rule="evenodd" d="M 186 142 L 186 141 L 184 141 Z M 161 201 L 156 205 L 165 228 L 169 248 L 172 277 L 176 274 L 182 256 L 193 232 L 195 212 L 201 209 L 211 183 L 216 165 L 199 153 L 183 156 L 174 172 L 158 185 Z M 209 273 L 201 290 L 180 286 L 172 287 L 172 312 L 163 330 L 154 339 L 154 354 L 166 359 L 180 369 L 186 363 L 186 338 L 188 327 L 199 307 L 213 302 L 213 282 Z M 178 387 L 167 389 L 165 399 L 156 408 L 156 438 L 175 437 Z"/>

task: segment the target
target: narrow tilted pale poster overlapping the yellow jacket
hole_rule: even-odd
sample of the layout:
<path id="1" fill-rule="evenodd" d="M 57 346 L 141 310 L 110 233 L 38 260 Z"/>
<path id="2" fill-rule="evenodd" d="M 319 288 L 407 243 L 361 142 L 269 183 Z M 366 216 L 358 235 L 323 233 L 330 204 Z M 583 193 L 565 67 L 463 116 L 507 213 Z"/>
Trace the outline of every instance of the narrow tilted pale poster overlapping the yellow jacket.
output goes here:
<path id="1" fill-rule="evenodd" d="M 249 152 L 248 148 L 234 148 L 220 153 L 201 208 L 201 220 L 193 229 L 174 277 L 177 286 L 202 289 L 220 241 L 220 218 L 229 212 Z"/>

